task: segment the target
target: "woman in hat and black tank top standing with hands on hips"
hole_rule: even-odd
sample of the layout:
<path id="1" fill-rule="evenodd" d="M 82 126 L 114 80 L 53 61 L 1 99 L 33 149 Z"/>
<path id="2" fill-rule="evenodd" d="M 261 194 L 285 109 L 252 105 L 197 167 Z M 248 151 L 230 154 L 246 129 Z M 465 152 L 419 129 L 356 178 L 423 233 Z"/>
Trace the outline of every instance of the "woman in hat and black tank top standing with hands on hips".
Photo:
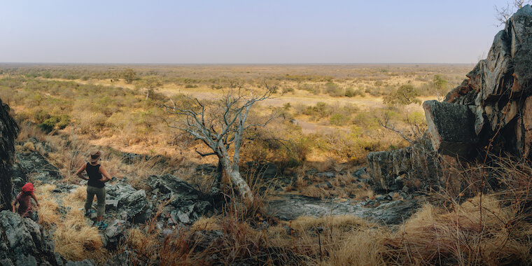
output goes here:
<path id="1" fill-rule="evenodd" d="M 80 179 L 87 180 L 87 200 L 85 200 L 85 216 L 90 215 L 90 208 L 92 207 L 92 200 L 94 195 L 97 198 L 97 218 L 96 226 L 100 229 L 107 227 L 106 223 L 102 223 L 102 216 L 105 212 L 105 183 L 111 181 L 111 175 L 107 172 L 107 169 L 103 165 L 98 163 L 98 160 L 102 157 L 102 151 L 95 150 L 90 152 L 89 162 L 78 169 L 76 175 Z M 83 176 L 83 171 L 87 172 L 87 179 Z"/>

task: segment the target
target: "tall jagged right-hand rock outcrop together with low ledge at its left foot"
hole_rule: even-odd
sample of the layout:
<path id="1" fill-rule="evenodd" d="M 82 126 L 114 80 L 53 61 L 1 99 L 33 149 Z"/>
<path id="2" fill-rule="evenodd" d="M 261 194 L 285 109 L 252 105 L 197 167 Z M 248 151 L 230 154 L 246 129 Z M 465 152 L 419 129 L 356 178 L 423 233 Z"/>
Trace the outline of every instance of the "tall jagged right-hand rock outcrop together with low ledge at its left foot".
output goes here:
<path id="1" fill-rule="evenodd" d="M 419 142 L 427 141 L 428 147 L 414 145 L 367 155 L 375 186 L 398 189 L 393 186 L 400 173 L 406 173 L 410 180 L 429 173 L 413 181 L 421 181 L 421 186 L 434 184 L 438 181 L 437 153 L 454 158 L 512 153 L 531 159 L 531 69 L 532 8 L 526 5 L 507 20 L 487 58 L 479 61 L 461 85 L 443 102 L 423 103 L 428 130 L 426 139 Z"/>

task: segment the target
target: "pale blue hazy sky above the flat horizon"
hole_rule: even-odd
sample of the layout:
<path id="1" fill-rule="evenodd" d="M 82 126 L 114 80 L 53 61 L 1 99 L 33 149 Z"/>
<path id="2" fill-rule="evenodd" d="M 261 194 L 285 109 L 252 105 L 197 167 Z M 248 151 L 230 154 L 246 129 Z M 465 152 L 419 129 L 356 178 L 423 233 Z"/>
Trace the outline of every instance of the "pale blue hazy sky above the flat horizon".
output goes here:
<path id="1" fill-rule="evenodd" d="M 6 0 L 0 62 L 476 63 L 506 2 Z"/>

